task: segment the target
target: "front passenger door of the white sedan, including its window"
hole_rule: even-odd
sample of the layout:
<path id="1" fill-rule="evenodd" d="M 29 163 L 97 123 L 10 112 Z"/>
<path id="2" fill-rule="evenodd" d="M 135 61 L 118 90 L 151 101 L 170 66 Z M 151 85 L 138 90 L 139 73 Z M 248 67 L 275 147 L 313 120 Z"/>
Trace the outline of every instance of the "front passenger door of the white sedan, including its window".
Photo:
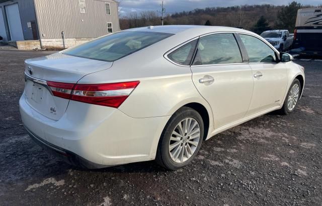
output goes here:
<path id="1" fill-rule="evenodd" d="M 253 71 L 254 91 L 247 116 L 282 104 L 287 88 L 285 63 L 278 63 L 277 53 L 259 38 L 239 34 Z"/>

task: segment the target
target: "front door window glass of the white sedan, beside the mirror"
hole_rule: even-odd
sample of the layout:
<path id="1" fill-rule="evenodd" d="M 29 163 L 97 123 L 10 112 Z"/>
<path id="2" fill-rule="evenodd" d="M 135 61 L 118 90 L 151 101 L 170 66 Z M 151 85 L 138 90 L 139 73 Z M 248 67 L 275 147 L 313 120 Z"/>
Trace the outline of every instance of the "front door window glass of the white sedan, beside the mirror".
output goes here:
<path id="1" fill-rule="evenodd" d="M 263 41 L 256 37 L 239 34 L 243 41 L 250 63 L 273 63 L 276 62 L 275 52 Z"/>

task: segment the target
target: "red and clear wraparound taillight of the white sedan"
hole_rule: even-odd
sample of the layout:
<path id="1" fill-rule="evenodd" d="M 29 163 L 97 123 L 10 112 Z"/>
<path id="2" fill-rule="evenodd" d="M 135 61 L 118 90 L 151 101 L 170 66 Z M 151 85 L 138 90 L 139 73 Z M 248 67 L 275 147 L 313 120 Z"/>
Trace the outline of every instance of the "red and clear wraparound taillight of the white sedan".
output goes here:
<path id="1" fill-rule="evenodd" d="M 54 96 L 114 108 L 118 108 L 139 83 L 139 81 L 107 84 L 47 82 Z"/>

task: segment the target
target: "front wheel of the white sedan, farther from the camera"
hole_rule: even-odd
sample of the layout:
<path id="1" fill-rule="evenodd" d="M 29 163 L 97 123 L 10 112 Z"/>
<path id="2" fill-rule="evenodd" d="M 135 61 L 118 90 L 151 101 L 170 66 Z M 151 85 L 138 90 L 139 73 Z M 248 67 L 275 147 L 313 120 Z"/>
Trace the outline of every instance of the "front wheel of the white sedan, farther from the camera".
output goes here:
<path id="1" fill-rule="evenodd" d="M 294 79 L 284 100 L 283 107 L 279 110 L 281 114 L 289 114 L 294 111 L 301 95 L 301 83 Z"/>

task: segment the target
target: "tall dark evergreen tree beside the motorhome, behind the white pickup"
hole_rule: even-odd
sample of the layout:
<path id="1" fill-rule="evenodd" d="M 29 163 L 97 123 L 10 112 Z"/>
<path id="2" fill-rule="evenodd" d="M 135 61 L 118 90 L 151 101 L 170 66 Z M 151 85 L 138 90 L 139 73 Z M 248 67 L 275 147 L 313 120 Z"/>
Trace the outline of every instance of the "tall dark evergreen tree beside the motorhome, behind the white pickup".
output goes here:
<path id="1" fill-rule="evenodd" d="M 293 33 L 295 29 L 295 22 L 297 16 L 297 10 L 301 9 L 301 4 L 292 2 L 288 6 L 282 8 L 277 13 L 276 26 L 278 29 L 287 29 L 290 33 Z"/>

